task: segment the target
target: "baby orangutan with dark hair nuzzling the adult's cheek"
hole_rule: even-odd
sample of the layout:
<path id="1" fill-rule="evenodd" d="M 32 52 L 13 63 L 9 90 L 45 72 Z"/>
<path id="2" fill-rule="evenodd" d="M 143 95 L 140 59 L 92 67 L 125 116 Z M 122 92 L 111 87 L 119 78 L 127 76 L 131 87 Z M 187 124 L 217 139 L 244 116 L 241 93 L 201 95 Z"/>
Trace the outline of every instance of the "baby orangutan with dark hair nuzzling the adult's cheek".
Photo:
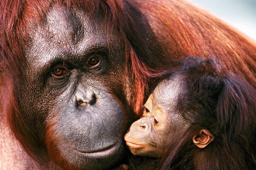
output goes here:
<path id="1" fill-rule="evenodd" d="M 163 74 L 125 141 L 160 169 L 256 168 L 256 90 L 215 59 L 187 57 Z"/>

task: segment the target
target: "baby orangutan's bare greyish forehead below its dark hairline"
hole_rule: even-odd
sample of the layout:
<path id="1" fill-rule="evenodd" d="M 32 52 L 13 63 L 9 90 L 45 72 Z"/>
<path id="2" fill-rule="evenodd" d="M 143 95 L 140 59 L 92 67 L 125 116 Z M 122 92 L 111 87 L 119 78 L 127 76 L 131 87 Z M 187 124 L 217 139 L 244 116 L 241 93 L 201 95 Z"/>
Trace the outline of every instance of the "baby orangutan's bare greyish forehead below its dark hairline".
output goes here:
<path id="1" fill-rule="evenodd" d="M 184 92 L 181 80 L 177 77 L 164 79 L 152 93 L 154 105 L 175 104 L 180 93 Z"/>

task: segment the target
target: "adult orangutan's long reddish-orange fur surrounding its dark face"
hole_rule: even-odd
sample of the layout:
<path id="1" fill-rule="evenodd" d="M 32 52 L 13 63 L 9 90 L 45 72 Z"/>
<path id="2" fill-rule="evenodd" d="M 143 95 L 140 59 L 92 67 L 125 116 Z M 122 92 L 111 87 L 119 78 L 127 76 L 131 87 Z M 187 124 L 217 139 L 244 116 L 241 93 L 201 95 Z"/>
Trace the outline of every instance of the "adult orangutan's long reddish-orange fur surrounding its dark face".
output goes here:
<path id="1" fill-rule="evenodd" d="M 189 3 L 180 0 L 56 1 L 68 8 L 85 8 L 92 16 L 101 8 L 109 23 L 106 29 L 119 30 L 125 42 L 127 75 L 134 79 L 125 85 L 129 88 L 123 88 L 126 88 L 128 105 L 134 108 L 135 113 L 140 111 L 151 77 L 175 65 L 172 59 L 188 55 L 217 56 L 228 70 L 256 87 L 256 45 Z M 44 167 L 25 152 L 33 155 L 26 146 L 29 136 L 17 133 L 15 123 L 18 122 L 12 115 L 25 119 L 19 113 L 14 84 L 18 81 L 20 63 L 24 63 L 21 43 L 27 37 L 26 26 L 41 22 L 51 4 L 51 0 L 0 1 L 0 157 L 7 169 L 14 166 L 28 169 L 27 162 L 33 164 L 34 168 Z M 17 160 L 17 157 L 22 160 Z"/>

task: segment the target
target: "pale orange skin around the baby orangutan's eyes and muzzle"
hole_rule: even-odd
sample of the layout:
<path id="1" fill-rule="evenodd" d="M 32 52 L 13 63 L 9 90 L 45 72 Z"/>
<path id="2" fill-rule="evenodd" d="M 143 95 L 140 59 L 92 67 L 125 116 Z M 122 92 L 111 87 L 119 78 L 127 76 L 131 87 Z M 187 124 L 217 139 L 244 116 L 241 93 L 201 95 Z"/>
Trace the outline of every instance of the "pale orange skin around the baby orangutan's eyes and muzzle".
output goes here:
<path id="1" fill-rule="evenodd" d="M 151 94 L 145 103 L 143 117 L 134 122 L 125 141 L 131 153 L 140 156 L 159 157 L 162 140 L 165 136 L 166 114 L 160 107 L 153 107 L 154 97 Z M 154 109 L 153 109 L 154 108 Z"/>

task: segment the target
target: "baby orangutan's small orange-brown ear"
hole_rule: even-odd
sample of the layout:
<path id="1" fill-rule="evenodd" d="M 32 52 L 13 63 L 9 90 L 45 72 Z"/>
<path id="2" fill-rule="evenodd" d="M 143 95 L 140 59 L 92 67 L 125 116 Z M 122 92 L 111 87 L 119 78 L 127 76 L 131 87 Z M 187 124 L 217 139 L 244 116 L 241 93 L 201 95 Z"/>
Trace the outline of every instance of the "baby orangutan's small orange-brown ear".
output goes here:
<path id="1" fill-rule="evenodd" d="M 199 135 L 193 136 L 192 140 L 194 144 L 199 148 L 206 147 L 214 139 L 212 133 L 207 129 L 202 129 L 199 132 Z"/>

